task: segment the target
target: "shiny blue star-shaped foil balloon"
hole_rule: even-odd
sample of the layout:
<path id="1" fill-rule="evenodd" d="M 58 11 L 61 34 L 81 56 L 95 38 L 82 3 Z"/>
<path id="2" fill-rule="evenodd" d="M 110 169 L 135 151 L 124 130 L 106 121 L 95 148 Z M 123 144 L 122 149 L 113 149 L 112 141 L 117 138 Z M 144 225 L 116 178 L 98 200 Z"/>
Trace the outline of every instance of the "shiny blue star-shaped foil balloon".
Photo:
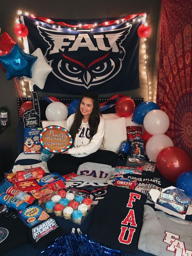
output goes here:
<path id="1" fill-rule="evenodd" d="M 9 54 L 0 56 L 0 63 L 6 69 L 6 79 L 14 77 L 32 78 L 31 68 L 37 57 L 24 53 L 19 45 L 14 45 Z"/>

